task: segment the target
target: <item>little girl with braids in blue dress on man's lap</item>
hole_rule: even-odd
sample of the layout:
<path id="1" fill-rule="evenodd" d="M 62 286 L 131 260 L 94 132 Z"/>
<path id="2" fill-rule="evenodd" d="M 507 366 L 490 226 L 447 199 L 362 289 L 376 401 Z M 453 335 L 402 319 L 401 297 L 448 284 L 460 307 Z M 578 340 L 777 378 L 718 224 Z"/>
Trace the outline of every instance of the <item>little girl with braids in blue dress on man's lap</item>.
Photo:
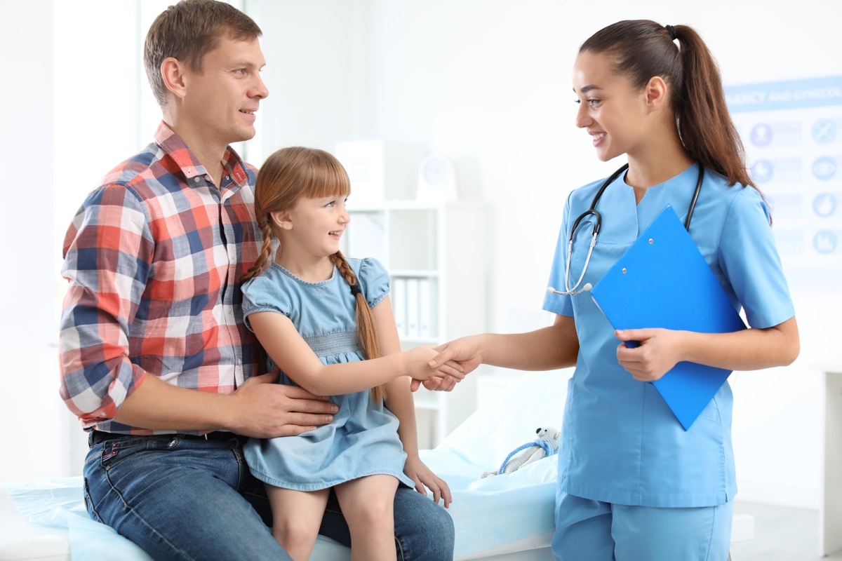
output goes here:
<path id="1" fill-rule="evenodd" d="M 431 347 L 400 352 L 388 273 L 374 259 L 338 251 L 349 193 L 336 158 L 300 147 L 269 156 L 255 185 L 264 246 L 245 275 L 243 315 L 281 383 L 332 395 L 339 406 L 327 426 L 245 447 L 251 472 L 267 485 L 272 533 L 296 561 L 312 550 L 331 488 L 354 559 L 396 558 L 399 484 L 423 494 L 426 485 L 435 502 L 450 505 L 447 484 L 418 458 L 409 379 L 464 375 L 452 365 L 429 368 Z M 280 245 L 263 271 L 274 239 Z"/>

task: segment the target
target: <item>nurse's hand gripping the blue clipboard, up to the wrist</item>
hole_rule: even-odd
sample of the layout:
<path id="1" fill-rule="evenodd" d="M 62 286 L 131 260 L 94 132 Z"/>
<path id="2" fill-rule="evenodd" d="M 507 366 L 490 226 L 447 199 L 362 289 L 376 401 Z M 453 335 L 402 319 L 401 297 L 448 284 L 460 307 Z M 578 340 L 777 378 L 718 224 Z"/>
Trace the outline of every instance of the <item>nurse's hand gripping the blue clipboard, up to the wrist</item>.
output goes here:
<path id="1" fill-rule="evenodd" d="M 636 380 L 659 380 L 681 361 L 681 333 L 660 328 L 617 330 L 614 335 L 623 341 L 617 347 L 617 362 Z M 626 341 L 637 341 L 639 345 L 626 347 Z"/>

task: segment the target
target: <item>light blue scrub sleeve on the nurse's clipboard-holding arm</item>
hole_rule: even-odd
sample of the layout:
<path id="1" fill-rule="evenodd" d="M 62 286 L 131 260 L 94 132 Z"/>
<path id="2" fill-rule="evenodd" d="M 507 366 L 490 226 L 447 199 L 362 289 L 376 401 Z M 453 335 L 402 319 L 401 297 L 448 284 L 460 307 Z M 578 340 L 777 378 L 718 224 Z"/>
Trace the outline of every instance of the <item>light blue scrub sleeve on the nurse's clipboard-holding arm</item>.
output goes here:
<path id="1" fill-rule="evenodd" d="M 722 227 L 719 259 L 751 327 L 772 327 L 795 315 L 769 209 L 754 188 L 742 188 L 733 198 Z"/>

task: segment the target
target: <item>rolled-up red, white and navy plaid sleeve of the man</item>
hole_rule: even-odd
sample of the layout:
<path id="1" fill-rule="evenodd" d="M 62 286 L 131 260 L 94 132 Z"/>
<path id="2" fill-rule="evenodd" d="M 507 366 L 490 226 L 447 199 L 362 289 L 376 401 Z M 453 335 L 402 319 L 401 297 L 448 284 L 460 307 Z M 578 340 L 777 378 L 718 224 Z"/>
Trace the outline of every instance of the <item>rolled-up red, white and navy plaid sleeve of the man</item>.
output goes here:
<path id="1" fill-rule="evenodd" d="M 146 209 L 123 185 L 91 193 L 67 230 L 60 393 L 83 426 L 113 418 L 145 376 L 130 361 L 129 335 L 153 251 Z"/>

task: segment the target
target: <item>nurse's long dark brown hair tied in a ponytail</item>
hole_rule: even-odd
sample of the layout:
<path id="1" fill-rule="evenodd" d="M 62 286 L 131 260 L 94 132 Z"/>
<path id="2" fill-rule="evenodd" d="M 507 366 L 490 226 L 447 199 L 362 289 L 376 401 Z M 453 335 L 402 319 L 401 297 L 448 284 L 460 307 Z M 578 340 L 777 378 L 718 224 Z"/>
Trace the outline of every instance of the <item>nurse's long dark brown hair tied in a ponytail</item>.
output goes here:
<path id="1" fill-rule="evenodd" d="M 729 185 L 757 188 L 745 165 L 743 142 L 728 114 L 722 77 L 711 51 L 695 29 L 670 31 L 647 19 L 626 20 L 600 29 L 579 52 L 608 56 L 617 73 L 642 88 L 655 76 L 667 83 L 679 138 L 687 154 L 727 177 Z"/>

